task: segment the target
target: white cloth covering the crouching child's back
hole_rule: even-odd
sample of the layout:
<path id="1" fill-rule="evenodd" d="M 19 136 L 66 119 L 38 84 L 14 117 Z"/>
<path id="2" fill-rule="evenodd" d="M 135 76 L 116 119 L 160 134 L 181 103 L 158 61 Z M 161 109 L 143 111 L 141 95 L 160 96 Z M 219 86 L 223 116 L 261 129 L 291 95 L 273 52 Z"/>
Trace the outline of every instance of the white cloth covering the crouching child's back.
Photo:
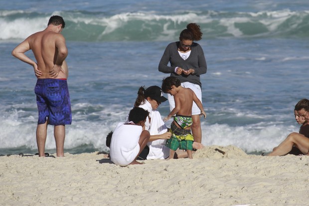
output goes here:
<path id="1" fill-rule="evenodd" d="M 128 125 L 123 122 L 115 128 L 111 140 L 111 161 L 116 165 L 127 166 L 140 152 L 139 139 L 143 128 L 139 125 Z"/>

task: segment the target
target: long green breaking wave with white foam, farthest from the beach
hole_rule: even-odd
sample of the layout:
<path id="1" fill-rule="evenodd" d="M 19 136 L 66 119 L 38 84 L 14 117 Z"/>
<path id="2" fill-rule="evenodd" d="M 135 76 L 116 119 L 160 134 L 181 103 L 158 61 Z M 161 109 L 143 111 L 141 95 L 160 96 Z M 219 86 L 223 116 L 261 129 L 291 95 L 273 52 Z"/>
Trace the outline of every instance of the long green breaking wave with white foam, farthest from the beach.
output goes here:
<path id="1" fill-rule="evenodd" d="M 48 14 L 31 13 L 27 11 L 27 15 L 31 17 L 20 17 L 16 13 L 20 14 L 24 11 L 1 11 L 0 12 L 0 39 L 14 39 L 25 38 L 31 33 L 42 30 L 46 27 L 46 22 L 50 16 Z M 75 38 L 80 37 L 84 39 L 83 35 L 93 35 L 93 32 L 88 30 L 93 28 L 96 31 L 103 30 L 101 33 L 96 34 L 94 40 L 101 40 L 107 38 L 109 34 L 117 32 L 118 29 L 128 27 L 127 31 L 134 33 L 146 32 L 149 35 L 149 31 L 156 35 L 150 35 L 152 39 L 163 40 L 171 39 L 173 35 L 176 35 L 182 24 L 187 22 L 198 22 L 203 29 L 205 35 L 210 36 L 262 36 L 262 35 L 274 35 L 287 33 L 288 31 L 297 31 L 300 29 L 302 34 L 305 28 L 302 25 L 304 19 L 308 16 L 308 11 L 290 11 L 290 10 L 277 10 L 277 11 L 259 11 L 259 12 L 227 12 L 227 11 L 184 11 L 179 13 L 159 14 L 153 12 L 121 12 L 108 16 L 103 13 L 85 13 L 83 11 L 53 11 L 52 15 L 63 15 L 68 26 L 71 26 L 70 30 L 65 32 L 71 34 Z M 14 16 L 14 17 L 11 17 Z M 12 19 L 9 19 L 9 18 Z M 289 19 L 289 26 L 283 26 Z M 142 23 L 141 23 L 142 22 Z M 267 31 L 257 29 L 253 33 L 246 33 L 244 30 L 252 30 L 249 27 L 256 26 L 256 23 L 262 24 L 267 28 Z M 91 27 L 89 27 L 91 26 Z M 243 28 L 239 27 L 243 26 Z M 299 28 L 300 27 L 300 28 Z M 305 28 L 306 29 L 306 28 Z M 78 32 L 80 31 L 80 32 Z M 72 32 L 72 33 L 70 33 Z M 134 39 L 130 36 L 130 33 L 122 33 L 119 38 Z M 69 35 L 69 36 L 71 36 Z M 119 35 L 119 33 L 117 33 Z M 129 36 L 127 36 L 129 35 Z M 133 35 L 133 34 L 132 34 Z M 143 35 L 142 35 L 143 36 Z"/>

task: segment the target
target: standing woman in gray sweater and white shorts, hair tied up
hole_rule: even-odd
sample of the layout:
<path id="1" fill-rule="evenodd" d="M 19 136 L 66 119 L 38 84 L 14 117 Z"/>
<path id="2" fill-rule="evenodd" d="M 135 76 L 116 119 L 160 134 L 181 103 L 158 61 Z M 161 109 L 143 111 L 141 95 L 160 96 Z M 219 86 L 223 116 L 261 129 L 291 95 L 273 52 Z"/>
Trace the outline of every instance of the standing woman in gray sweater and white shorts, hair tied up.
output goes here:
<path id="1" fill-rule="evenodd" d="M 179 41 L 167 45 L 158 66 L 160 72 L 170 73 L 170 76 L 180 80 L 181 86 L 192 89 L 201 102 L 200 75 L 206 73 L 207 65 L 202 47 L 194 41 L 200 40 L 202 34 L 199 25 L 189 23 L 187 28 L 181 31 Z M 170 66 L 167 65 L 168 62 Z M 172 110 L 175 107 L 174 98 L 171 95 L 167 97 Z M 200 114 L 201 111 L 193 102 L 191 130 L 194 141 L 198 143 L 202 141 Z"/>

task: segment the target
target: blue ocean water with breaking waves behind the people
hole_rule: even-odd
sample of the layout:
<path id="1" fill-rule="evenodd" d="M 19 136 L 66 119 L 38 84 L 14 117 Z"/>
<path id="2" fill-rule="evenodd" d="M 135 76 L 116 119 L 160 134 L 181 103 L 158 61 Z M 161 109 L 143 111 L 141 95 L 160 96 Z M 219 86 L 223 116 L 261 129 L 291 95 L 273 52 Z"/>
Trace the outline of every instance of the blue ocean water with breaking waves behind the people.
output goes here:
<path id="1" fill-rule="evenodd" d="M 108 151 L 106 135 L 125 120 L 140 86 L 160 86 L 165 46 L 189 22 L 201 26 L 208 66 L 204 145 L 259 154 L 299 131 L 294 106 L 309 98 L 307 0 L 10 0 L 0 2 L 0 154 L 36 153 L 36 79 L 10 52 L 51 15 L 65 19 L 69 49 L 65 152 Z M 168 102 L 158 110 L 166 116 Z M 52 126 L 46 152 L 55 152 Z"/>

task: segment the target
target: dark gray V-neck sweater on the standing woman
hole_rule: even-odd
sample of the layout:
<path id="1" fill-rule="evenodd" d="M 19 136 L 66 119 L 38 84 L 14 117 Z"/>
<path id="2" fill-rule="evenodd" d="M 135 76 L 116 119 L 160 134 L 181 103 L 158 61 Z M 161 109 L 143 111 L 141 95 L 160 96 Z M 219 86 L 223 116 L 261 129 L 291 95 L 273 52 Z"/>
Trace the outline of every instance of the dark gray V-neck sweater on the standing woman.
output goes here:
<path id="1" fill-rule="evenodd" d="M 178 78 L 180 82 L 191 82 L 202 87 L 199 76 L 205 74 L 207 71 L 207 64 L 202 47 L 198 43 L 193 42 L 190 56 L 184 60 L 178 53 L 178 45 L 179 41 L 167 45 L 158 66 L 159 71 L 170 73 L 170 76 Z M 170 66 L 167 66 L 168 62 Z M 174 73 L 176 67 L 180 67 L 184 70 L 192 68 L 195 74 L 177 75 Z"/>

